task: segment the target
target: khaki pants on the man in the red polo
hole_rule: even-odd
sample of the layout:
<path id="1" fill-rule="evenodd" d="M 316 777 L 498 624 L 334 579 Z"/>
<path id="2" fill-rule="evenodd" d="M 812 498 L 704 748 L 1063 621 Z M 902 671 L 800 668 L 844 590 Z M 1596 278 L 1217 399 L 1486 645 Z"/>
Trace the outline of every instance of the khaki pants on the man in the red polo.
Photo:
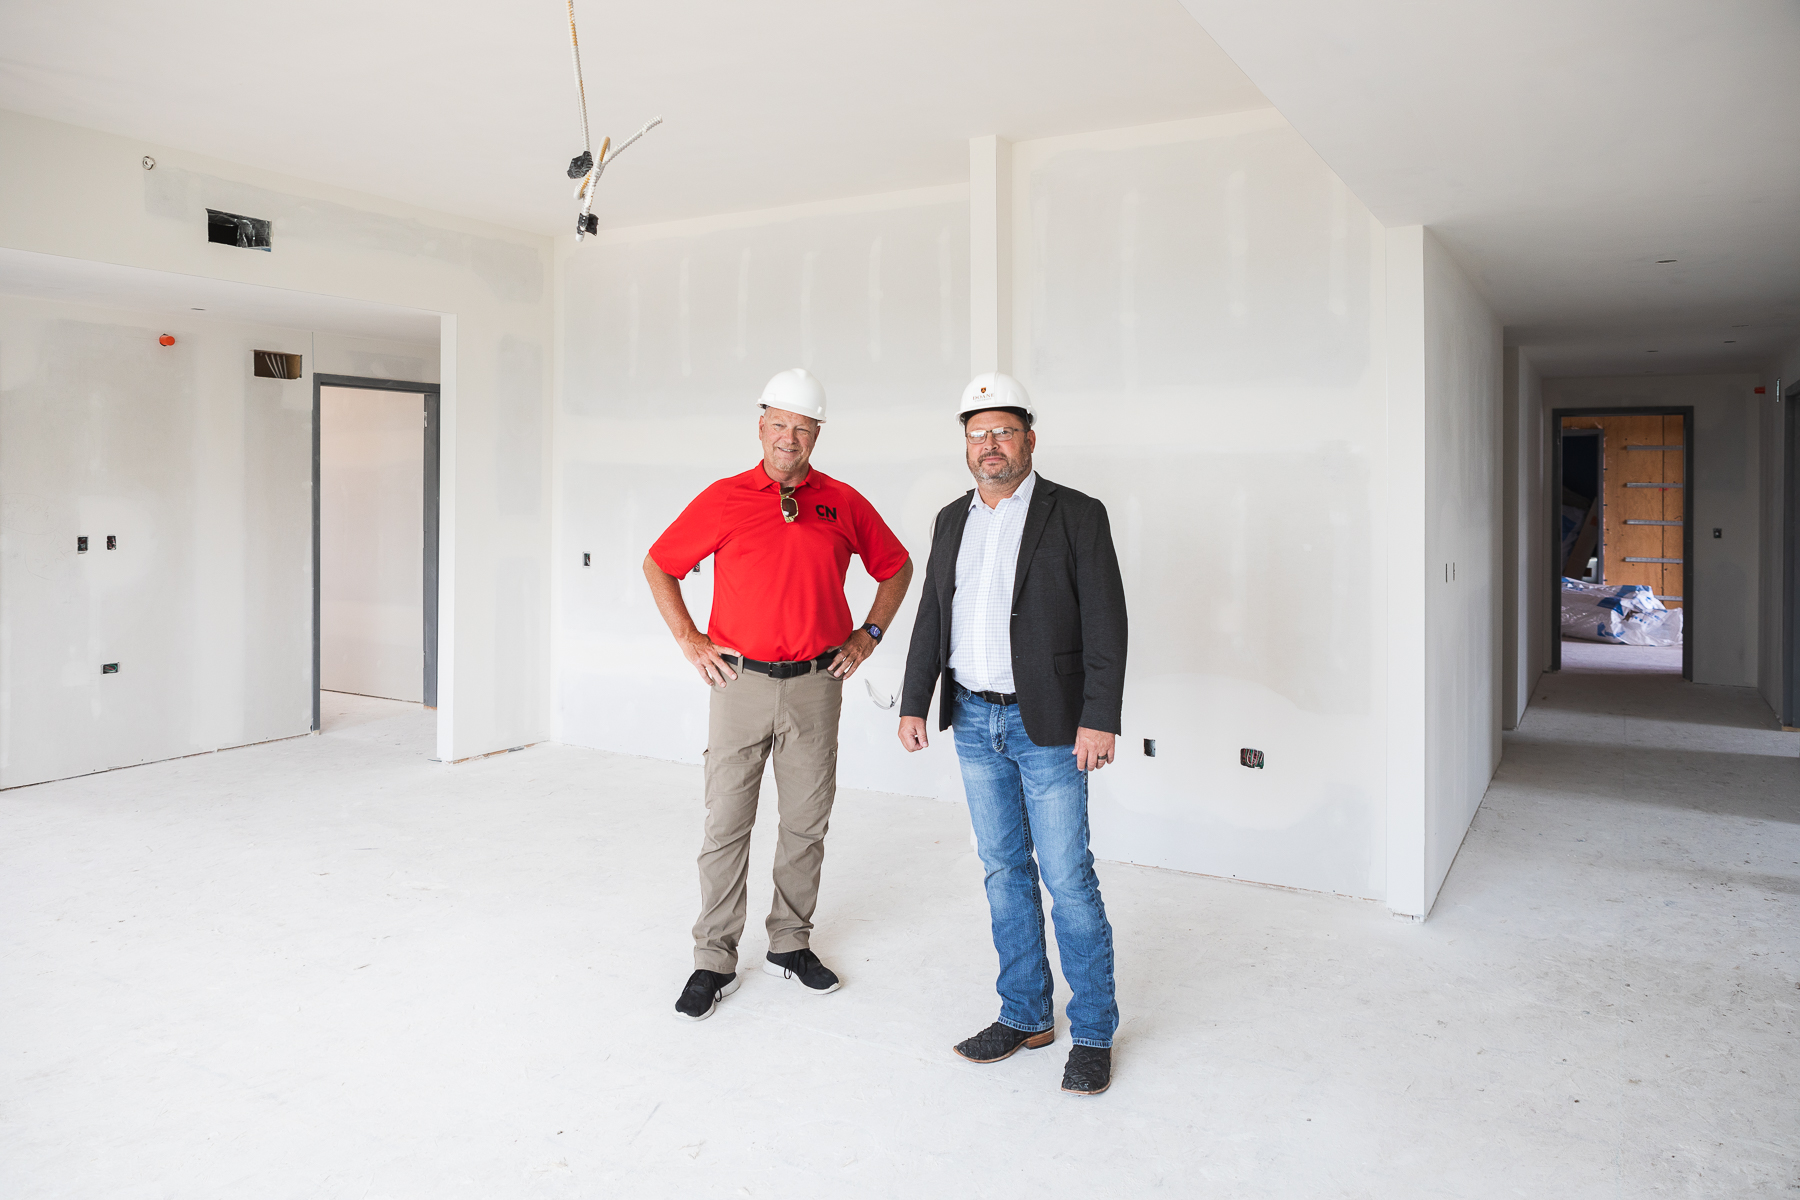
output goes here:
<path id="1" fill-rule="evenodd" d="M 713 691 L 706 738 L 706 840 L 700 844 L 700 919 L 693 927 L 698 970 L 738 970 L 743 894 L 751 869 L 751 826 L 763 763 L 776 756 L 781 833 L 776 840 L 776 896 L 769 910 L 769 950 L 806 946 L 819 903 L 824 829 L 837 797 L 837 714 L 844 682 L 824 669 L 787 680 L 756 671 Z"/>

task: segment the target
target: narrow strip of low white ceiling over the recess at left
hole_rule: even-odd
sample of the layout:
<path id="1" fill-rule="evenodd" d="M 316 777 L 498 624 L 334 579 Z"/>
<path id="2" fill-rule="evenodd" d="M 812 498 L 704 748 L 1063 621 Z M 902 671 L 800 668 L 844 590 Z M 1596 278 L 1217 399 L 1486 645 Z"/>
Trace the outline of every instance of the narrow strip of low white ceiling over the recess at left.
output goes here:
<path id="1" fill-rule="evenodd" d="M 288 291 L 286 288 L 229 279 L 176 275 L 142 266 L 65 259 L 56 254 L 32 254 L 5 246 L 0 246 L 0 295 L 27 295 L 151 313 L 187 313 L 194 320 L 245 320 L 259 326 L 434 345 L 441 326 L 437 313 L 412 308 Z"/>

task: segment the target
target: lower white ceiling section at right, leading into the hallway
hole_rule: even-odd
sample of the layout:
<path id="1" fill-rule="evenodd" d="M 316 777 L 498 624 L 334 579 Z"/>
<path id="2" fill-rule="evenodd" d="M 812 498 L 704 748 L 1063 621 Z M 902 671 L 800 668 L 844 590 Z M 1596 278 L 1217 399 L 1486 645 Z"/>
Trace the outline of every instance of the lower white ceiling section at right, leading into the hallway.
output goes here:
<path id="1" fill-rule="evenodd" d="M 1795 0 L 1183 2 L 1546 374 L 1759 369 L 1800 336 Z"/>

